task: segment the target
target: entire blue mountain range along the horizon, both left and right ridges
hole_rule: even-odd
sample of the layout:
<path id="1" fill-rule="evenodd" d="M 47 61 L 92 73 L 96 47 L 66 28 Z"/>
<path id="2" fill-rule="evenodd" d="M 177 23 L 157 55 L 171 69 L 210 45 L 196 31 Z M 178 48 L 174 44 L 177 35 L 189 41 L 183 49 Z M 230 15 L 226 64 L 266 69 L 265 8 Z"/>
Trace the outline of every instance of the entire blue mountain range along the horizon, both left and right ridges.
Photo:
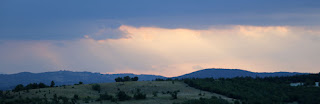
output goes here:
<path id="1" fill-rule="evenodd" d="M 188 73 L 185 75 L 172 77 L 172 78 L 233 78 L 233 77 L 268 77 L 268 76 L 292 76 L 297 74 L 307 74 L 307 73 L 297 73 L 297 72 L 273 72 L 273 73 L 257 73 L 250 72 L 240 69 L 203 69 Z M 72 85 L 78 82 L 83 82 L 85 84 L 91 83 L 106 83 L 115 82 L 115 78 L 130 76 L 139 77 L 139 81 L 149 81 L 155 80 L 157 78 L 166 79 L 168 77 L 159 75 L 147 75 L 147 74 L 132 74 L 132 73 L 122 73 L 122 74 L 100 74 L 92 72 L 73 72 L 73 71 L 55 71 L 55 72 L 44 72 L 44 73 L 30 73 L 21 72 L 17 74 L 0 74 L 0 90 L 9 90 L 14 88 L 18 84 L 27 85 L 29 83 L 45 83 L 50 85 L 53 80 L 56 85 Z"/>

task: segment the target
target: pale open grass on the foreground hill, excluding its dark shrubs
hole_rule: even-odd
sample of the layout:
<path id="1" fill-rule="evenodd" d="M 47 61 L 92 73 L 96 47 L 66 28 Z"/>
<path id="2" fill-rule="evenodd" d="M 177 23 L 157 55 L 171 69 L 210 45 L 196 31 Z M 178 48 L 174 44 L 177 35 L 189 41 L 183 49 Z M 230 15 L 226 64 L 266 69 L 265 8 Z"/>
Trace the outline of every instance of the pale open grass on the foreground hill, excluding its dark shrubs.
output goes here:
<path id="1" fill-rule="evenodd" d="M 85 103 L 84 99 L 86 97 L 90 97 L 90 104 L 100 104 L 100 103 L 110 103 L 116 104 L 115 102 L 111 102 L 110 100 L 96 101 L 99 98 L 100 94 L 104 94 L 107 92 L 109 95 L 116 96 L 116 94 L 121 90 L 126 92 L 129 96 L 133 96 L 134 92 L 137 89 L 140 89 L 142 93 L 147 94 L 147 98 L 143 100 L 128 100 L 128 101 L 118 101 L 118 104 L 172 104 L 172 103 L 180 103 L 186 100 L 191 99 L 199 99 L 202 98 L 210 98 L 211 96 L 216 96 L 218 98 L 226 99 L 230 102 L 233 99 L 218 95 L 215 93 L 210 93 L 206 91 L 201 91 L 192 87 L 189 87 L 187 84 L 180 81 L 135 81 L 135 82 L 115 82 L 115 83 L 100 83 L 101 91 L 95 91 L 92 89 L 91 84 L 83 84 L 83 85 L 71 85 L 71 86 L 61 86 L 54 88 L 42 88 L 42 89 L 33 89 L 29 92 L 20 91 L 20 92 L 11 92 L 12 95 L 15 95 L 14 99 L 18 99 L 19 96 L 21 98 L 47 98 L 50 100 L 53 98 L 54 94 L 57 96 L 67 97 L 69 99 L 73 98 L 75 94 L 79 95 L 78 103 Z M 178 99 L 172 99 L 170 94 L 166 94 L 168 91 L 177 91 Z M 158 92 L 157 96 L 153 95 L 154 92 Z M 50 92 L 50 93 L 49 93 Z M 201 93 L 201 95 L 199 95 Z"/>

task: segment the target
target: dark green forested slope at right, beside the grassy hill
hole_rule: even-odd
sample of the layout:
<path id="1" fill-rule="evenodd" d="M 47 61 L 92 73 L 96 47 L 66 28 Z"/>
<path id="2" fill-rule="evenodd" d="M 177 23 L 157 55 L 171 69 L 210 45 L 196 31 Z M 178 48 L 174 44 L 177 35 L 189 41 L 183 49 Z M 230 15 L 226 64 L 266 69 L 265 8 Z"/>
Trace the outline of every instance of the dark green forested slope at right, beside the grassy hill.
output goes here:
<path id="1" fill-rule="evenodd" d="M 236 77 L 184 79 L 191 87 L 239 99 L 243 104 L 319 104 L 320 88 L 314 83 L 320 81 L 320 74 L 290 77 Z M 290 83 L 304 83 L 293 87 Z"/>

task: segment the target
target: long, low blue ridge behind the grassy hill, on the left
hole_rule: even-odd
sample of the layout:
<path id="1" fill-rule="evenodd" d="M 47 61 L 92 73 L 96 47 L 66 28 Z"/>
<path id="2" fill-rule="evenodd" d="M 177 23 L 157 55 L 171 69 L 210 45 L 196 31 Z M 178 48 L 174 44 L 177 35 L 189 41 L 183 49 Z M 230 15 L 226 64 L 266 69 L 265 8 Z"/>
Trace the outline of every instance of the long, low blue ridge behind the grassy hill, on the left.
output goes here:
<path id="1" fill-rule="evenodd" d="M 136 75 L 136 74 L 100 74 L 92 72 L 72 72 L 72 71 L 55 71 L 44 73 L 21 72 L 17 74 L 0 74 L 0 90 L 8 90 L 14 88 L 18 84 L 29 83 L 45 83 L 50 85 L 53 80 L 56 85 L 72 85 L 79 81 L 90 83 L 106 83 L 115 82 L 115 78 L 124 76 L 137 76 L 139 81 L 148 81 L 156 78 L 166 78 L 157 75 Z"/>

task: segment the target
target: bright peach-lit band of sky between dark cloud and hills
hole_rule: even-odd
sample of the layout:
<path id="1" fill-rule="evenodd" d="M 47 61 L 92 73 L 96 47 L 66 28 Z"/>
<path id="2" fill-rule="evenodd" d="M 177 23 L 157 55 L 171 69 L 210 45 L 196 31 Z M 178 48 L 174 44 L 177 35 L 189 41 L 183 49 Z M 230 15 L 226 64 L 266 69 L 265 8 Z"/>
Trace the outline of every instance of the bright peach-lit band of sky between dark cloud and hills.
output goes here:
<path id="1" fill-rule="evenodd" d="M 176 76 L 211 67 L 317 72 L 320 62 L 318 28 L 230 25 L 194 30 L 122 25 L 114 31 L 124 36 L 4 41 L 0 66 L 6 73 L 89 70 Z"/>

